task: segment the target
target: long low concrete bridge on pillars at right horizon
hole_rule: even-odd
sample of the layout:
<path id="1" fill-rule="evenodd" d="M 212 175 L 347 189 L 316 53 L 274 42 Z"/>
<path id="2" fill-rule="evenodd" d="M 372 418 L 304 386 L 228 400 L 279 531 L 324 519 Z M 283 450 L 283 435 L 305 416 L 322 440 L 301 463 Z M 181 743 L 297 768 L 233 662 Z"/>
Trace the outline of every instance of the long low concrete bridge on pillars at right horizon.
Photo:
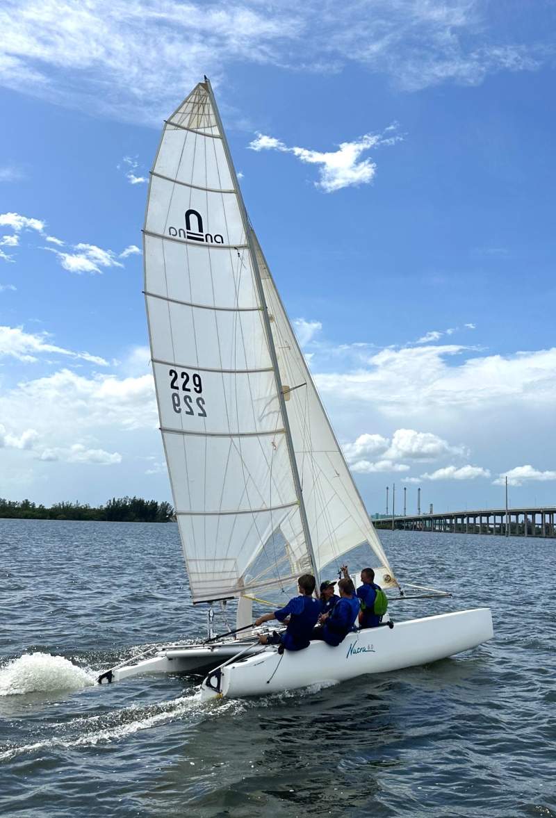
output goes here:
<path id="1" fill-rule="evenodd" d="M 556 506 L 521 509 L 445 511 L 442 514 L 373 519 L 374 528 L 452 534 L 499 534 L 501 537 L 556 537 Z"/>

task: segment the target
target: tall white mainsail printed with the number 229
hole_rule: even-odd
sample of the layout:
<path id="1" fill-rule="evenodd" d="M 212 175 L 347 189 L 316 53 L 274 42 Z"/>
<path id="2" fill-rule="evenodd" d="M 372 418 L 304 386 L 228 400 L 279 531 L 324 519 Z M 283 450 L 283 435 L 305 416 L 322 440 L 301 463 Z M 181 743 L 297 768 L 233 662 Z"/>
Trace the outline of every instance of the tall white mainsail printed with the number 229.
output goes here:
<path id="1" fill-rule="evenodd" d="M 165 125 L 144 229 L 160 426 L 195 601 L 289 584 L 311 566 L 241 204 L 200 83 Z"/>

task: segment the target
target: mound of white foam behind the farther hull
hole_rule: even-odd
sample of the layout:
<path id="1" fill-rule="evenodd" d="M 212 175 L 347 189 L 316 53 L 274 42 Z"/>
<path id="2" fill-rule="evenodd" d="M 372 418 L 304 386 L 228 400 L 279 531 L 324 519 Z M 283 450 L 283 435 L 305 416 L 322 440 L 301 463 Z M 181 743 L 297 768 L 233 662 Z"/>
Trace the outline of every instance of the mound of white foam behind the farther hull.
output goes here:
<path id="1" fill-rule="evenodd" d="M 0 696 L 50 690 L 79 690 L 95 684 L 95 677 L 63 656 L 24 654 L 0 668 Z"/>

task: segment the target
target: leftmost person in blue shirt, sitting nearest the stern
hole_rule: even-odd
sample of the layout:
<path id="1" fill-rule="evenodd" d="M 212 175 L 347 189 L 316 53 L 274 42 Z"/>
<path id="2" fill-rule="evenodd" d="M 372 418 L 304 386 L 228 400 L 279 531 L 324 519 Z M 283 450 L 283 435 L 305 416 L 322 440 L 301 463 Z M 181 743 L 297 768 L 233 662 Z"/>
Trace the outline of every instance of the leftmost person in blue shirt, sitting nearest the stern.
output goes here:
<path id="1" fill-rule="evenodd" d="M 303 650 L 309 647 L 312 629 L 321 615 L 321 603 L 312 596 L 315 586 L 312 574 L 304 573 L 298 579 L 299 596 L 294 596 L 284 608 L 274 613 L 265 613 L 255 620 L 255 625 L 262 625 L 271 619 L 277 619 L 278 622 L 288 619 L 285 633 L 278 634 L 275 631 L 271 636 L 259 636 L 261 645 L 280 645 L 282 650 Z"/>

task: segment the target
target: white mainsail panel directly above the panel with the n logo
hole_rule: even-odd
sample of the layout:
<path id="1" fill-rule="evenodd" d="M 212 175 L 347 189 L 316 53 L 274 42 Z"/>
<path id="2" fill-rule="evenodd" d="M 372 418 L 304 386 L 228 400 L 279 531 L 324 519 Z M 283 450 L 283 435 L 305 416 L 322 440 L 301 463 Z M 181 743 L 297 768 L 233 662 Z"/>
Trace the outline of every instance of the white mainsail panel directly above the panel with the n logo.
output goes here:
<path id="1" fill-rule="evenodd" d="M 217 191 L 234 187 L 222 139 L 182 128 L 165 128 L 154 171 L 196 187 Z"/>

